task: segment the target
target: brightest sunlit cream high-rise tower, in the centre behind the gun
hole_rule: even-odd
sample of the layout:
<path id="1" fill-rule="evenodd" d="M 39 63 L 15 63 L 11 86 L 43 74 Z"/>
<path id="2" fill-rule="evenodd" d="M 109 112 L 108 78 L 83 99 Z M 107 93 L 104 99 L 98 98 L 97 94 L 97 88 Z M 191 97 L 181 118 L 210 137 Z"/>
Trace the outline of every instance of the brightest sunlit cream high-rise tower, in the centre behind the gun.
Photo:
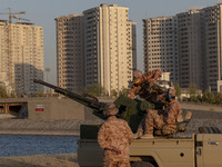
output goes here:
<path id="1" fill-rule="evenodd" d="M 127 7 L 101 4 L 83 11 L 85 86 L 111 90 L 128 88 L 135 68 L 135 24 Z"/>

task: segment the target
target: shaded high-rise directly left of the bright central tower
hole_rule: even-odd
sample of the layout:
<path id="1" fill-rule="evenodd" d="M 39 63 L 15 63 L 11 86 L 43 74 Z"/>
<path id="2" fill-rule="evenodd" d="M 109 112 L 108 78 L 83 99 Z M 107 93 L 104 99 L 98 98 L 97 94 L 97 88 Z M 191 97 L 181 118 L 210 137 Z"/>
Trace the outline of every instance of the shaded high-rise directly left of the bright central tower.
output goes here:
<path id="1" fill-rule="evenodd" d="M 84 88 L 83 16 L 62 16 L 56 21 L 58 86 L 81 92 Z"/>

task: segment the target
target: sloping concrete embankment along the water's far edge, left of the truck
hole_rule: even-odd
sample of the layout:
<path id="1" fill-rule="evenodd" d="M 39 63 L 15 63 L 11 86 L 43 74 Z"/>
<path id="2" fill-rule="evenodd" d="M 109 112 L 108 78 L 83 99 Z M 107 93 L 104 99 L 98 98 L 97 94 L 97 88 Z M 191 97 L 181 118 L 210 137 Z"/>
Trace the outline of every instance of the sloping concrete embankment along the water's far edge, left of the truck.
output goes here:
<path id="1" fill-rule="evenodd" d="M 101 120 L 29 120 L 1 119 L 0 135 L 68 135 L 79 136 L 80 125 L 98 125 Z"/>

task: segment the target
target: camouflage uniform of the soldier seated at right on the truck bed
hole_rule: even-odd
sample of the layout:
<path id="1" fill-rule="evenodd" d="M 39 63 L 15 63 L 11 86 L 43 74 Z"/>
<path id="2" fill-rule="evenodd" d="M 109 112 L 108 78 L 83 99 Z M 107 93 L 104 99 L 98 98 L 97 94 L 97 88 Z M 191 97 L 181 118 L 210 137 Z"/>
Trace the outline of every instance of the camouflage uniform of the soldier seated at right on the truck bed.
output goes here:
<path id="1" fill-rule="evenodd" d="M 150 110 L 145 117 L 145 132 L 152 135 L 153 128 L 162 129 L 163 135 L 174 134 L 176 125 L 167 125 L 165 124 L 175 124 L 176 117 L 182 115 L 180 104 L 174 100 L 170 102 L 167 108 L 168 115 L 159 115 L 158 110 Z M 164 126 L 164 127 L 163 127 Z"/>

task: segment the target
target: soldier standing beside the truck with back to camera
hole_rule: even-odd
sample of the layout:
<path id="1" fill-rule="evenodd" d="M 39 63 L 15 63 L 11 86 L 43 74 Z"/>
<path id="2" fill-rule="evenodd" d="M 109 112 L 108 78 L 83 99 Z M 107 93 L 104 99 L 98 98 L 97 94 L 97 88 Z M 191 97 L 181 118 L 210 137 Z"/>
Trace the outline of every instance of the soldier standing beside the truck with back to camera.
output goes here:
<path id="1" fill-rule="evenodd" d="M 98 143 L 104 150 L 104 167 L 130 167 L 129 144 L 133 134 L 127 121 L 115 117 L 118 111 L 114 104 L 107 108 L 108 120 L 98 132 Z"/>

